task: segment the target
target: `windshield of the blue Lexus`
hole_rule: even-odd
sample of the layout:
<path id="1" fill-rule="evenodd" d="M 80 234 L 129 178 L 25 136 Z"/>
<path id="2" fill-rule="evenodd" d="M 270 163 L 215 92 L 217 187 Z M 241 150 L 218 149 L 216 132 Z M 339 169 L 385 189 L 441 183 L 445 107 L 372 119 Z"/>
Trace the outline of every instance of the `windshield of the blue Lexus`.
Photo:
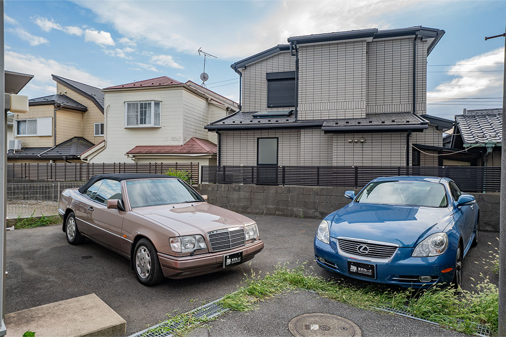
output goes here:
<path id="1" fill-rule="evenodd" d="M 372 182 L 365 187 L 356 202 L 425 207 L 448 205 L 442 184 L 410 180 Z"/>

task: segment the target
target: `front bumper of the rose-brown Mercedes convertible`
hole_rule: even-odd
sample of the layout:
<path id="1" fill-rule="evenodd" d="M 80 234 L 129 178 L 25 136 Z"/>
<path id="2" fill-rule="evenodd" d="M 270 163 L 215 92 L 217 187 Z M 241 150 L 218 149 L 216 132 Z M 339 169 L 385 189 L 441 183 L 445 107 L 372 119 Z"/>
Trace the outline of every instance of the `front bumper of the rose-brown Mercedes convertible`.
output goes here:
<path id="1" fill-rule="evenodd" d="M 242 264 L 254 258 L 262 249 L 264 249 L 264 242 L 259 239 L 235 249 L 196 256 L 175 257 L 158 253 L 158 259 L 160 260 L 163 276 L 167 278 L 185 278 L 223 270 L 223 257 L 225 255 L 242 252 Z"/>

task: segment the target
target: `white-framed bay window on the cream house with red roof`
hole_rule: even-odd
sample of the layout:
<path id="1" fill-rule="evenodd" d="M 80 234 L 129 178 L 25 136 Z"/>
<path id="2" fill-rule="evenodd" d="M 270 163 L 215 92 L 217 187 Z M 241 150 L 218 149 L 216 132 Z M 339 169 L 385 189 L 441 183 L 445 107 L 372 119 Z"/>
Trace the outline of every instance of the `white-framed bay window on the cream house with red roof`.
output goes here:
<path id="1" fill-rule="evenodd" d="M 160 126 L 160 102 L 125 102 L 125 127 Z"/>

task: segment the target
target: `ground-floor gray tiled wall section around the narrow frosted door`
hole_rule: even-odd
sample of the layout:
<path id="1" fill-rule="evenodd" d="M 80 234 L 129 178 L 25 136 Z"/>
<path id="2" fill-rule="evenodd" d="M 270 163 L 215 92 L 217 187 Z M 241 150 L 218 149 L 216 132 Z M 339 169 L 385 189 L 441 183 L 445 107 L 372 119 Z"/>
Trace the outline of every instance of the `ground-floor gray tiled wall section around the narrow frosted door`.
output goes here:
<path id="1" fill-rule="evenodd" d="M 278 137 L 278 165 L 300 165 L 301 131 L 222 131 L 222 165 L 257 165 L 257 138 Z"/>

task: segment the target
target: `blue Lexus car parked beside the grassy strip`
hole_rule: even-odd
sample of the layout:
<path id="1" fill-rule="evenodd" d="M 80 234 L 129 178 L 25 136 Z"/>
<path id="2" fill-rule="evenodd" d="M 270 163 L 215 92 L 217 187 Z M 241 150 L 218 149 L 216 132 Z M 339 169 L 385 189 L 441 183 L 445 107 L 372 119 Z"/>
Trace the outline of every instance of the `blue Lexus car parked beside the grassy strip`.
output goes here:
<path id="1" fill-rule="evenodd" d="M 383 177 L 369 182 L 316 231 L 316 262 L 365 281 L 427 287 L 460 286 L 462 259 L 478 243 L 475 198 L 434 177 Z"/>

